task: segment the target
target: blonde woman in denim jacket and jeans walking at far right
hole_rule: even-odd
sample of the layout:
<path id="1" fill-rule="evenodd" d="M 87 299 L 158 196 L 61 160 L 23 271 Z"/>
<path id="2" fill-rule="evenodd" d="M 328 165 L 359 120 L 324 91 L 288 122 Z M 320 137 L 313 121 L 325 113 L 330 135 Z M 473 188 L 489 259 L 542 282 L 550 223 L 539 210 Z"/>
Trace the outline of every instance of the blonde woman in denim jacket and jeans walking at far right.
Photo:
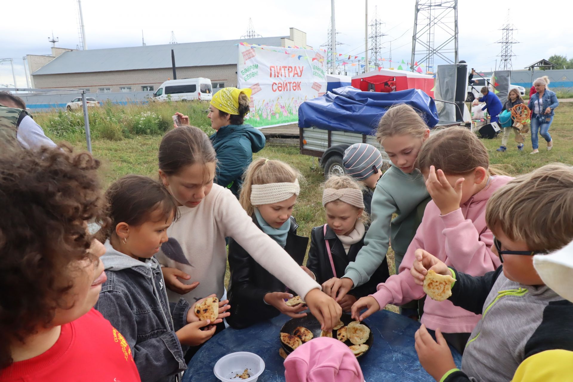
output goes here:
<path id="1" fill-rule="evenodd" d="M 547 76 L 539 77 L 533 81 L 533 86 L 537 93 L 529 98 L 527 107 L 533 112 L 531 115 L 531 145 L 533 146 L 532 154 L 539 152 L 538 133 L 547 141 L 547 150 L 553 148 L 553 140 L 549 135 L 549 128 L 555 115 L 554 109 L 559 106 L 555 92 L 547 87 L 549 78 Z"/>

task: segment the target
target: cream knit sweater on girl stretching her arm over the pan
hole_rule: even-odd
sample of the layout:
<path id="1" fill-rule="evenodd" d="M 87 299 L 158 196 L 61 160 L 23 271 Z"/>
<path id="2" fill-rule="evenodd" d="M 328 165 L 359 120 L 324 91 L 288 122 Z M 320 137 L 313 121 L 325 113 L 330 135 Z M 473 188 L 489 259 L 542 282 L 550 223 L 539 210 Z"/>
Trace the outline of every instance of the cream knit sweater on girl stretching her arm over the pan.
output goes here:
<path id="1" fill-rule="evenodd" d="M 304 298 L 320 285 L 268 235 L 253 223 L 237 198 L 226 188 L 213 184 L 209 195 L 195 208 L 179 207 L 181 217 L 167 230 L 169 241 L 156 255 L 162 266 L 175 267 L 191 275 L 199 286 L 181 296 L 167 290 L 169 301 L 180 297 L 190 304 L 215 293 L 223 296 L 227 251 L 225 237 L 231 237 L 289 289 Z"/>

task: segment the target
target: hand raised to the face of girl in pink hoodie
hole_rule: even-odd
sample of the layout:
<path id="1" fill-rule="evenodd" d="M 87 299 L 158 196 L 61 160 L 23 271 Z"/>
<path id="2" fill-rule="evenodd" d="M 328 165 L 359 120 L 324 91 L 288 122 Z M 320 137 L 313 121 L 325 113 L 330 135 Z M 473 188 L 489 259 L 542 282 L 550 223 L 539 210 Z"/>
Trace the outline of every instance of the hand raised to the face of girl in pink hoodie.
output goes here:
<path id="1" fill-rule="evenodd" d="M 439 208 L 442 215 L 449 214 L 460 208 L 462 201 L 462 183 L 464 178 L 456 180 L 456 187 L 452 187 L 444 175 L 444 171 L 435 171 L 434 166 L 430 166 L 430 174 L 426 180 L 426 188 L 431 196 L 431 200 Z"/>

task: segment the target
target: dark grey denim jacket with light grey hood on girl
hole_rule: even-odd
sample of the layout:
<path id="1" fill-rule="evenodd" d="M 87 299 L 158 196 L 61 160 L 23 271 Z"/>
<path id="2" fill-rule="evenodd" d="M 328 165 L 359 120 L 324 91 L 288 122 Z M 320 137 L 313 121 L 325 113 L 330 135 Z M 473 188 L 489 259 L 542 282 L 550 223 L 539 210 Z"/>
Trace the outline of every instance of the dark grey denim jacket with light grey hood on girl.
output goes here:
<path id="1" fill-rule="evenodd" d="M 168 303 L 155 258 L 136 260 L 105 242 L 104 282 L 95 308 L 123 334 L 143 382 L 177 381 L 187 368 L 176 330 L 187 324 L 189 303 Z"/>

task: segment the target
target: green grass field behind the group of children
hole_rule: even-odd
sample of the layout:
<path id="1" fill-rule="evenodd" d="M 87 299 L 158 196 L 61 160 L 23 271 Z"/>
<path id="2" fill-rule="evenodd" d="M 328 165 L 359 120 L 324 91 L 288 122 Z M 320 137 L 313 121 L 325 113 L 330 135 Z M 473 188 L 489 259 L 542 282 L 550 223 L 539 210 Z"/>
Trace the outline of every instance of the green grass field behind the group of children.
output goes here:
<path id="1" fill-rule="evenodd" d="M 168 109 L 167 104 L 161 105 L 160 113 L 170 117 L 174 111 L 182 111 L 181 104 L 176 108 Z M 156 106 L 155 106 L 156 107 Z M 210 127 L 205 125 L 206 115 L 189 107 L 189 111 L 195 113 L 195 124 L 209 132 Z M 46 118 L 46 117 L 44 117 Z M 42 120 L 37 118 L 37 120 Z M 193 123 L 193 122 L 192 122 Z M 208 120 L 207 120 L 208 123 Z M 40 123 L 41 124 L 41 123 Z M 61 140 L 53 129 L 46 128 L 46 133 L 55 141 Z M 528 135 L 525 141 L 523 152 L 517 151 L 513 143 L 513 135 L 510 136 L 508 151 L 497 152 L 496 149 L 501 144 L 501 137 L 497 139 L 483 140 L 489 149 L 490 162 L 502 164 L 505 171 L 512 175 L 523 174 L 534 168 L 543 166 L 551 162 L 563 162 L 573 164 L 573 103 L 563 103 L 556 109 L 555 119 L 551 125 L 550 133 L 554 138 L 554 149 L 545 151 L 545 141 L 540 137 L 540 153 L 529 155 L 531 152 L 531 139 Z M 85 141 L 81 136 L 74 137 L 74 145 L 85 149 Z M 157 151 L 160 135 L 134 135 L 127 139 L 121 137 L 119 140 L 94 139 L 93 153 L 103 162 L 101 175 L 105 184 L 120 178 L 125 174 L 143 174 L 152 177 L 157 176 Z M 301 187 L 301 194 L 295 207 L 295 217 L 300 225 L 299 234 L 309 236 L 312 227 L 324 224 L 324 211 L 321 205 L 321 183 L 324 181 L 323 170 L 319 166 L 316 158 L 300 155 L 298 147 L 278 147 L 267 145 L 254 157 L 263 156 L 270 159 L 279 159 L 297 168 L 303 174 L 305 180 Z M 393 266 L 393 253 L 388 251 L 388 263 Z M 228 271 L 226 281 L 228 280 Z"/>

